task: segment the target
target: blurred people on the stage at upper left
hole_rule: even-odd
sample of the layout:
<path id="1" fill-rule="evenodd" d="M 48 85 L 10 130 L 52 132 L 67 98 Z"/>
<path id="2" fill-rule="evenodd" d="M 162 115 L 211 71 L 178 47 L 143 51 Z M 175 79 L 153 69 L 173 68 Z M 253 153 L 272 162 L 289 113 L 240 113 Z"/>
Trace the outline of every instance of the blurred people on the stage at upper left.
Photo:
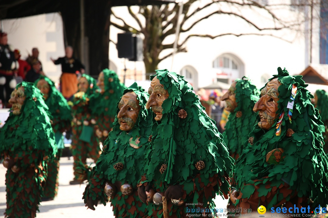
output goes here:
<path id="1" fill-rule="evenodd" d="M 73 48 L 65 48 L 65 57 L 52 59 L 54 64 L 61 64 L 60 91 L 69 100 L 77 91 L 76 73 L 84 73 L 84 65 L 73 57 Z M 35 82 L 40 75 L 46 75 L 39 59 L 39 49 L 32 48 L 26 59 L 21 58 L 18 48 L 12 49 L 8 44 L 8 34 L 0 32 L 0 109 L 10 108 L 10 93 L 16 84 L 26 81 Z"/>

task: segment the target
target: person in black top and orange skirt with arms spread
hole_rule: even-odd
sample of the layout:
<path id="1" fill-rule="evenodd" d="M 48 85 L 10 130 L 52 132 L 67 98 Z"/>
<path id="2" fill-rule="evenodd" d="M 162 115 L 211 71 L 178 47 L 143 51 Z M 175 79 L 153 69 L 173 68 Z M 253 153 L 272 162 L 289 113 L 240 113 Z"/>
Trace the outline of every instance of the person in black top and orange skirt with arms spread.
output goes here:
<path id="1" fill-rule="evenodd" d="M 54 64 L 61 64 L 62 75 L 60 76 L 60 91 L 63 96 L 69 100 L 73 94 L 77 92 L 77 75 L 76 71 L 84 73 L 84 65 L 80 60 L 73 58 L 72 46 L 65 48 L 65 57 L 54 60 L 50 58 Z"/>

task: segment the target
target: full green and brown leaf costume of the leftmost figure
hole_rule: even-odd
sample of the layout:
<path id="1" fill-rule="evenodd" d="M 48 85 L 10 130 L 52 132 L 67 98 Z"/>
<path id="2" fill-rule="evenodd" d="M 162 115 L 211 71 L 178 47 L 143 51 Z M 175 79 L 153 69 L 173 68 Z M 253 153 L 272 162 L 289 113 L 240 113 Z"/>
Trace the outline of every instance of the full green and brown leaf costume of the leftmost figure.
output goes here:
<path id="1" fill-rule="evenodd" d="M 35 217 L 47 178 L 47 161 L 57 151 L 48 107 L 33 83 L 22 82 L 26 99 L 19 115 L 10 115 L 1 129 L 0 154 L 19 168 L 6 173 L 9 217 Z"/>

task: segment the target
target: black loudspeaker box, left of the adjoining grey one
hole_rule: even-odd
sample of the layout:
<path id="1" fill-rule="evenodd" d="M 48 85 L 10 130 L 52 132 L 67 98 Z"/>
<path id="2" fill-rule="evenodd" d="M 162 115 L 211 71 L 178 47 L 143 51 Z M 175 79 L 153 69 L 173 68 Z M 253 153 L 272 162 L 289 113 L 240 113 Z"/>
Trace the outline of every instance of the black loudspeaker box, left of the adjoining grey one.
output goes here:
<path id="1" fill-rule="evenodd" d="M 117 52 L 119 58 L 134 59 L 134 39 L 132 33 L 117 34 Z"/>

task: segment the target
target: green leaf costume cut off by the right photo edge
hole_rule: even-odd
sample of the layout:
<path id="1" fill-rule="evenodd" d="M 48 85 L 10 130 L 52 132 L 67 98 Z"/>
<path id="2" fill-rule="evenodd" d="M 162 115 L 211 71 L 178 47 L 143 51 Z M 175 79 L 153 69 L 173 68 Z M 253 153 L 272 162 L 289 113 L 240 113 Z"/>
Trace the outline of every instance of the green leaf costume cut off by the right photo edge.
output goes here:
<path id="1" fill-rule="evenodd" d="M 322 134 L 325 141 L 323 150 L 328 154 L 328 94 L 324 90 L 317 90 L 314 97 L 317 99 L 314 107 L 319 110 L 321 121 L 325 126 L 325 131 Z"/>

